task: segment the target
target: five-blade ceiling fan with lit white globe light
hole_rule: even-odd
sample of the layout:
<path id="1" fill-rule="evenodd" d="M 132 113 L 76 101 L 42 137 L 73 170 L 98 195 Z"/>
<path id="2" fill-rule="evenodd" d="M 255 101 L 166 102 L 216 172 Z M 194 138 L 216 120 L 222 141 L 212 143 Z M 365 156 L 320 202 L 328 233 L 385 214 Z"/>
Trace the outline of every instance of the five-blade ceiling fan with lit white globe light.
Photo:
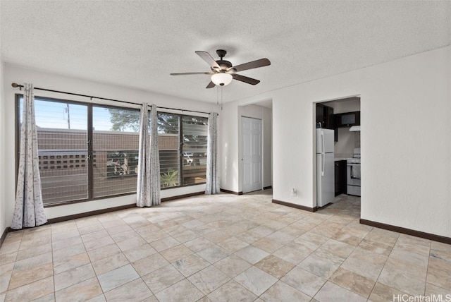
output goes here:
<path id="1" fill-rule="evenodd" d="M 247 62 L 245 64 L 233 66 L 232 63 L 223 59 L 227 54 L 227 52 L 223 49 L 216 50 L 216 54 L 218 54 L 219 58 L 221 58 L 216 61 L 208 52 L 202 52 L 198 50 L 196 51 L 196 54 L 200 56 L 204 61 L 206 61 L 206 64 L 209 64 L 211 71 L 199 73 L 171 73 L 171 75 L 211 75 L 211 81 L 209 85 L 206 85 L 206 88 L 213 88 L 215 85 L 228 85 L 230 84 L 230 82 L 232 82 L 232 80 L 239 80 L 250 85 L 257 85 L 258 83 L 260 83 L 259 80 L 248 78 L 244 75 L 239 75 L 237 74 L 237 72 L 271 65 L 271 62 L 268 59 L 259 59 L 256 61 Z"/>

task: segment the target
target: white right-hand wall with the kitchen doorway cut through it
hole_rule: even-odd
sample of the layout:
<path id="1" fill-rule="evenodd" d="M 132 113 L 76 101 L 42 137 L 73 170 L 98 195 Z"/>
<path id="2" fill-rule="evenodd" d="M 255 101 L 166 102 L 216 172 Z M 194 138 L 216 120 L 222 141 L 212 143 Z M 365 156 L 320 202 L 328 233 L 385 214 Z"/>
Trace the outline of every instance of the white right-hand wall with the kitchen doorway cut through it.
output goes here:
<path id="1" fill-rule="evenodd" d="M 444 47 L 242 100 L 273 99 L 273 198 L 316 205 L 312 103 L 361 95 L 362 219 L 451 237 L 450 66 Z"/>

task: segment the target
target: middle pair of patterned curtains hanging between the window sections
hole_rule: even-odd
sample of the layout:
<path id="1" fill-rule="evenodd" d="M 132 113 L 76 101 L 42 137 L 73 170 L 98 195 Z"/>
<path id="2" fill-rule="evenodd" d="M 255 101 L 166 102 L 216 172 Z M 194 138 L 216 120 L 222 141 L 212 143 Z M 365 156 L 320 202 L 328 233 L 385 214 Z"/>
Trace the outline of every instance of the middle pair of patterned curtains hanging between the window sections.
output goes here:
<path id="1" fill-rule="evenodd" d="M 152 105 L 150 110 L 150 135 L 147 108 L 147 103 L 142 104 L 140 114 L 140 150 L 136 188 L 138 207 L 152 207 L 161 203 L 156 105 Z"/>

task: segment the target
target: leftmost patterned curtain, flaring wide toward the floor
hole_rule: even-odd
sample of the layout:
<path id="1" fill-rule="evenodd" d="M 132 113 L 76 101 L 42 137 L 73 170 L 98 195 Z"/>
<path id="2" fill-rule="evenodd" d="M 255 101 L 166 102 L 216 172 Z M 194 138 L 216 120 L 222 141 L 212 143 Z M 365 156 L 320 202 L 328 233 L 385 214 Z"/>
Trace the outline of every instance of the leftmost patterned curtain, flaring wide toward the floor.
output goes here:
<path id="1" fill-rule="evenodd" d="M 39 176 L 37 157 L 35 96 L 32 84 L 25 83 L 24 87 L 16 205 L 11 229 L 37 227 L 47 222 L 42 202 L 41 177 Z"/>

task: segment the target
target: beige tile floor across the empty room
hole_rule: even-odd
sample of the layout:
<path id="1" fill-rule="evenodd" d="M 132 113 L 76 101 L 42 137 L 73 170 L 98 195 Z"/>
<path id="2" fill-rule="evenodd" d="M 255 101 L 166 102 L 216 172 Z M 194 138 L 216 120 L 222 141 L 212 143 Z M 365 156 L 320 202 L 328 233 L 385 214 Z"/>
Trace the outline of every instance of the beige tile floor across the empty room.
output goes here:
<path id="1" fill-rule="evenodd" d="M 199 196 L 8 234 L 3 301 L 393 301 L 451 294 L 451 246 L 310 213 L 271 191 Z M 400 300 L 398 300 L 400 301 Z"/>

